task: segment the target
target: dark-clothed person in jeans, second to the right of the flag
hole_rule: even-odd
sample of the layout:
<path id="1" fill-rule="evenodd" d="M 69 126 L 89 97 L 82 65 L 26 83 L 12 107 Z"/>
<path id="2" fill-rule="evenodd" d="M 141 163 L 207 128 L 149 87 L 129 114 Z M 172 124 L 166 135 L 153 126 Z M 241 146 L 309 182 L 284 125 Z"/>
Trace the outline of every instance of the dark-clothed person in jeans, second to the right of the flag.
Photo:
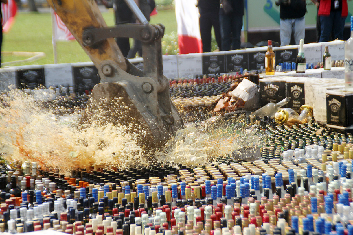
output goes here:
<path id="1" fill-rule="evenodd" d="M 244 0 L 221 0 L 220 25 L 222 50 L 240 49 L 243 28 Z"/>

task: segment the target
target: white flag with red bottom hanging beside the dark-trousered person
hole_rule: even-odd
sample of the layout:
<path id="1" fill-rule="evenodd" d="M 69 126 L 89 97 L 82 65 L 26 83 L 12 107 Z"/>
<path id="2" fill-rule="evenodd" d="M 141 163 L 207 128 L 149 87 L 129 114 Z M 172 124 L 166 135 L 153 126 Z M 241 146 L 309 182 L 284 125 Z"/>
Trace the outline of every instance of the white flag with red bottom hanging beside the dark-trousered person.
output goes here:
<path id="1" fill-rule="evenodd" d="M 178 45 L 180 54 L 202 52 L 197 0 L 175 1 L 178 23 Z"/>

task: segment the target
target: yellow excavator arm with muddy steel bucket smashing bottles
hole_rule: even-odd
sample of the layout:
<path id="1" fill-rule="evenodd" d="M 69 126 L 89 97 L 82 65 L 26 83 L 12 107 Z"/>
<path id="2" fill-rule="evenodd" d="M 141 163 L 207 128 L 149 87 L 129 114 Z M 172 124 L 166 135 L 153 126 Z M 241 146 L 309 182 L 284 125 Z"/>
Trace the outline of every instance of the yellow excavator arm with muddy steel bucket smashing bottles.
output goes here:
<path id="1" fill-rule="evenodd" d="M 122 126 L 144 153 L 162 147 L 184 127 L 163 76 L 164 26 L 148 24 L 133 0 L 125 0 L 141 24 L 108 27 L 95 0 L 47 0 L 98 69 L 80 125 Z M 121 54 L 114 37 L 142 41 L 143 71 Z"/>

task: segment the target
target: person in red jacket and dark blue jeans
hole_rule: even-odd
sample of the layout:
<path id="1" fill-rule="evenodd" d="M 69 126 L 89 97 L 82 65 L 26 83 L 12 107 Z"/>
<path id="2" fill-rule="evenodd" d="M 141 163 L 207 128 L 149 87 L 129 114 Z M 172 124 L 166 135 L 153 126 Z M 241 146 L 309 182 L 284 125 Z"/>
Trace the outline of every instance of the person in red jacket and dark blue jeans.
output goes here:
<path id="1" fill-rule="evenodd" d="M 320 42 L 330 41 L 332 31 L 335 39 L 343 40 L 343 29 L 348 15 L 347 0 L 320 0 L 319 2 Z"/>

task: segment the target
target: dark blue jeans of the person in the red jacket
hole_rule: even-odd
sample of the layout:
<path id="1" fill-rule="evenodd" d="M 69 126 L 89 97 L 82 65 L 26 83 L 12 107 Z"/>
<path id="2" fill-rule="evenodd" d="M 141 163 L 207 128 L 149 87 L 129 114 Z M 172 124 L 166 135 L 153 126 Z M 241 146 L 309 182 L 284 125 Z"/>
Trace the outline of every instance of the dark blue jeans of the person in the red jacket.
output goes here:
<path id="1" fill-rule="evenodd" d="M 320 16 L 321 36 L 320 42 L 331 41 L 331 32 L 334 39 L 343 40 L 343 29 L 345 28 L 346 17 L 342 17 L 341 11 L 331 11 L 329 16 Z"/>

